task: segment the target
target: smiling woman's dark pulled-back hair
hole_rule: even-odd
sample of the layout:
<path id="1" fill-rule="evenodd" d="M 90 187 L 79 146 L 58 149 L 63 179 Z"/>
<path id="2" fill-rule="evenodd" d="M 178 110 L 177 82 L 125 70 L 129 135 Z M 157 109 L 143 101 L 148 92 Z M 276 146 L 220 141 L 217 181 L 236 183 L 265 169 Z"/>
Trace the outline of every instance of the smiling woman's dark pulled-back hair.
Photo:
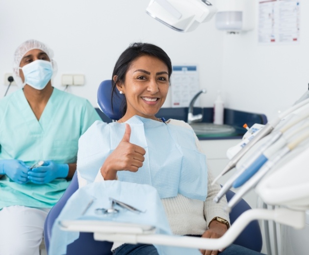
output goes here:
<path id="1" fill-rule="evenodd" d="M 118 82 L 125 82 L 127 71 L 132 63 L 137 57 L 149 55 L 154 56 L 160 59 L 164 64 L 166 64 L 168 69 L 168 79 L 170 80 L 172 74 L 172 62 L 169 56 L 163 51 L 160 47 L 150 44 L 150 43 L 132 43 L 129 47 L 121 53 L 120 57 L 118 58 L 113 75 L 112 75 L 112 93 L 111 93 L 111 102 L 112 102 L 112 109 L 113 109 L 113 94 L 117 94 L 116 84 Z M 113 80 L 113 77 L 117 76 L 116 81 Z M 121 114 L 122 116 L 125 115 L 127 111 L 127 102 L 126 98 L 121 105 Z"/>

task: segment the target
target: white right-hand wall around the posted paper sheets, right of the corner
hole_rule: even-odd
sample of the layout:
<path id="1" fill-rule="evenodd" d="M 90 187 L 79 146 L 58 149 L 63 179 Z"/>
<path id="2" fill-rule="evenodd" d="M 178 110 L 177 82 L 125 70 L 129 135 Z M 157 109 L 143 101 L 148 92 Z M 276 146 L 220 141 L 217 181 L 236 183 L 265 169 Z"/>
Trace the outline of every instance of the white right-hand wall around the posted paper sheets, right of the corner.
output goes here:
<path id="1" fill-rule="evenodd" d="M 227 107 L 264 113 L 270 120 L 308 90 L 309 1 L 299 2 L 299 43 L 258 43 L 258 0 L 256 28 L 238 35 L 225 33 L 222 86 Z"/>

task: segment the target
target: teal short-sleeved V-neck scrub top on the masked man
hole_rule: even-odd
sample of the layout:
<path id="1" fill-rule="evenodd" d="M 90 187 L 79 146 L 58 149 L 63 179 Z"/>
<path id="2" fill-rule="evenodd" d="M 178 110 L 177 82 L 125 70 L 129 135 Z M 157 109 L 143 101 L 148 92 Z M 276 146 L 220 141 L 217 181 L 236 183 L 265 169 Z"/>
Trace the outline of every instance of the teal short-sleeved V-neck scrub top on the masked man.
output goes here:
<path id="1" fill-rule="evenodd" d="M 27 165 L 40 160 L 76 163 L 79 137 L 96 120 L 101 120 L 86 99 L 53 88 L 38 121 L 23 90 L 0 100 L 0 160 L 20 159 Z M 57 178 L 38 185 L 18 184 L 0 178 L 0 209 L 10 205 L 52 207 L 70 181 Z"/>

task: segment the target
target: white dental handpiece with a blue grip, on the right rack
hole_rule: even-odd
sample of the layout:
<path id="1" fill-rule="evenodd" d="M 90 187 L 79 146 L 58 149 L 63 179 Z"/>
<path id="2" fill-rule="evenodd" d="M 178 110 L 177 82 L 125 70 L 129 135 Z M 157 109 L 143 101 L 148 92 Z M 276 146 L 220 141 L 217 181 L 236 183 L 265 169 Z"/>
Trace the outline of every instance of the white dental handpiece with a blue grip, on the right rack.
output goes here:
<path id="1" fill-rule="evenodd" d="M 258 169 L 270 158 L 274 153 L 276 153 L 280 148 L 287 144 L 287 141 L 295 134 L 301 132 L 302 130 L 309 127 L 309 124 L 302 124 L 301 127 L 294 128 L 290 130 L 295 124 L 304 120 L 309 116 L 309 111 L 302 114 L 296 120 L 289 123 L 289 125 L 283 126 L 274 136 L 267 142 L 265 142 L 258 149 L 258 152 L 250 157 L 247 161 L 242 163 L 238 171 L 223 185 L 221 190 L 213 199 L 214 202 L 218 203 L 220 199 L 226 194 L 226 192 L 233 186 L 234 188 L 241 186 L 245 181 L 247 181 L 252 175 L 254 175 Z M 285 133 L 290 130 L 289 133 Z M 283 135 L 284 134 L 284 135 Z"/>

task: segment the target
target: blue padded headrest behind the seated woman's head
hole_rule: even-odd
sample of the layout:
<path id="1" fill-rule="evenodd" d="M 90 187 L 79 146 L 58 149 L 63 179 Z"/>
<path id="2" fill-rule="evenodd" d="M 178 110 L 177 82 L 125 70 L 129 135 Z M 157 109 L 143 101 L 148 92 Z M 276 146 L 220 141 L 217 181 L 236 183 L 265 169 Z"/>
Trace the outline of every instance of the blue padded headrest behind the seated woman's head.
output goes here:
<path id="1" fill-rule="evenodd" d="M 111 104 L 112 82 L 103 80 L 98 88 L 97 103 L 101 111 L 112 120 L 119 120 L 122 117 L 121 104 L 125 100 L 123 94 L 113 94 L 113 109 Z"/>

